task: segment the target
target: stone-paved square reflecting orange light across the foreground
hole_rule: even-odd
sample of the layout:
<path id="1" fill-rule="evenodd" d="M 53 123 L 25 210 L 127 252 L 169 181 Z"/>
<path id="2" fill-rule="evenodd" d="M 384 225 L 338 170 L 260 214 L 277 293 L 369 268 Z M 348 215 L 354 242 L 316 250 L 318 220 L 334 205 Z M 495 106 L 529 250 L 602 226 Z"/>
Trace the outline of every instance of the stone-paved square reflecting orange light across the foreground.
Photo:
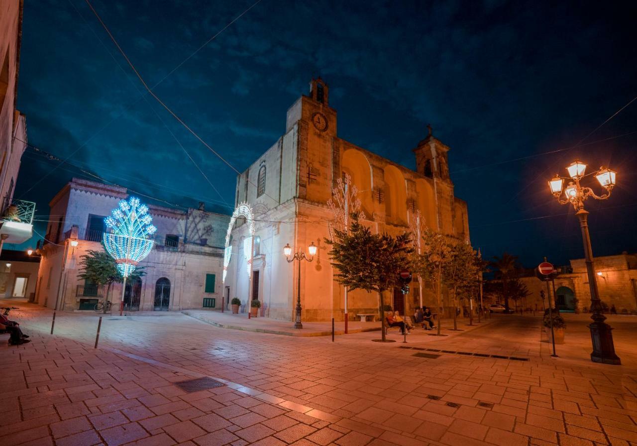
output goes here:
<path id="1" fill-rule="evenodd" d="M 632 319 L 612 320 L 624 365 L 605 366 L 587 358 L 584 317 L 567 321 L 555 359 L 539 317 L 407 344 L 104 317 L 94 349 L 93 315 L 58 313 L 52 336 L 52 312 L 29 308 L 11 315 L 31 343 L 0 336 L 2 445 L 637 444 Z M 206 377 L 224 385 L 175 384 Z"/>

